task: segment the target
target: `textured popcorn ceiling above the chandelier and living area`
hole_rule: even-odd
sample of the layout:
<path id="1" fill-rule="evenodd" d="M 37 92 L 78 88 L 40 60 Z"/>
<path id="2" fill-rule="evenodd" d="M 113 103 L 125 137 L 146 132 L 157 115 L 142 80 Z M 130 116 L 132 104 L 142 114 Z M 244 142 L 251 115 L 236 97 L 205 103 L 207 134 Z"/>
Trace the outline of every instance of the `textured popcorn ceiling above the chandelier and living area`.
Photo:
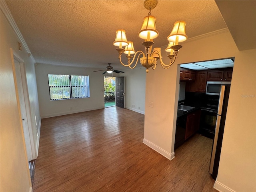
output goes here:
<path id="1" fill-rule="evenodd" d="M 118 52 L 112 44 L 117 29 L 126 30 L 135 50 L 144 50 L 138 31 L 148 10 L 141 0 L 6 3 L 37 63 L 105 68 L 110 62 L 121 70 Z M 186 21 L 188 38 L 226 28 L 214 0 L 158 0 L 151 13 L 156 17 L 159 32 L 154 47 L 168 44 L 166 37 L 177 20 Z"/>

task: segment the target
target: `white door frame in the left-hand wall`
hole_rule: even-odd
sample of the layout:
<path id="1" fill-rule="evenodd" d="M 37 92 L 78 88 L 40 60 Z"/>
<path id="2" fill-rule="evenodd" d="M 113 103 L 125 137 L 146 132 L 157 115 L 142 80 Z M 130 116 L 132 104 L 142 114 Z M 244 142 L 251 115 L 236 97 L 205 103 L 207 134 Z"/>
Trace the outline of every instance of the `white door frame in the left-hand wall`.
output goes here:
<path id="1" fill-rule="evenodd" d="M 21 126 L 24 134 L 24 141 L 25 141 L 25 146 L 26 146 L 26 152 L 27 152 L 27 158 L 28 161 L 36 159 L 37 153 L 36 153 L 36 145 L 35 145 L 35 140 L 33 136 L 33 123 L 32 123 L 32 117 L 31 117 L 31 109 L 30 109 L 30 101 L 29 101 L 29 94 L 28 94 L 28 86 L 27 86 L 27 79 L 26 79 L 26 70 L 25 70 L 25 65 L 24 65 L 24 60 L 17 54 L 15 51 L 11 49 L 11 55 L 12 55 L 12 67 L 14 70 L 14 84 L 15 84 L 15 89 L 16 89 L 16 97 L 19 102 L 18 104 L 18 110 L 20 113 L 21 117 L 21 109 L 20 109 L 20 99 L 18 96 L 18 82 L 16 79 L 16 67 L 15 67 L 15 62 L 16 60 L 19 65 L 20 65 L 20 76 L 21 76 L 21 83 L 22 83 L 22 92 L 24 96 L 24 106 L 25 106 L 25 111 L 26 111 L 26 119 L 28 127 L 24 128 L 22 125 L 22 120 L 21 120 Z"/>

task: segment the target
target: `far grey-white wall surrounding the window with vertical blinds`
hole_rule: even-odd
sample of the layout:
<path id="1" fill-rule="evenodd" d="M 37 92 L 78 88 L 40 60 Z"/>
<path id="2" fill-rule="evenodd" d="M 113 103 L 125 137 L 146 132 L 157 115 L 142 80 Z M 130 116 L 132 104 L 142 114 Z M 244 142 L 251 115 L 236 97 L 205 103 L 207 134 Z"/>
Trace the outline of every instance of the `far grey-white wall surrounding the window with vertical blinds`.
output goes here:
<path id="1" fill-rule="evenodd" d="M 42 118 L 104 108 L 104 76 L 94 69 L 36 64 L 36 80 Z M 88 75 L 90 98 L 50 100 L 48 74 Z"/>

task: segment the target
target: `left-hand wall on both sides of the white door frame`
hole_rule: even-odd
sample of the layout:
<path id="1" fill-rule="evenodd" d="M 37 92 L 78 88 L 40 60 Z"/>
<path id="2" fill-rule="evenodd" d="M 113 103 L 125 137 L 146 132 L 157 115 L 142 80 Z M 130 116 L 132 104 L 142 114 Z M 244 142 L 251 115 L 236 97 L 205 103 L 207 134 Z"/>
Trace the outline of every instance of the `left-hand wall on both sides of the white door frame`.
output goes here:
<path id="1" fill-rule="evenodd" d="M 40 129 L 40 115 L 34 73 L 34 60 L 25 50 L 18 50 L 16 34 L 2 12 L 1 2 L 1 110 L 0 110 L 0 191 L 31 191 L 32 185 L 26 157 L 26 146 L 22 129 L 21 116 L 14 84 L 12 55 L 10 48 L 24 60 L 28 80 L 29 105 L 31 109 L 33 135 L 38 142 L 37 130 Z M 36 120 L 35 120 L 36 117 Z M 36 126 L 37 124 L 37 126 Z"/>

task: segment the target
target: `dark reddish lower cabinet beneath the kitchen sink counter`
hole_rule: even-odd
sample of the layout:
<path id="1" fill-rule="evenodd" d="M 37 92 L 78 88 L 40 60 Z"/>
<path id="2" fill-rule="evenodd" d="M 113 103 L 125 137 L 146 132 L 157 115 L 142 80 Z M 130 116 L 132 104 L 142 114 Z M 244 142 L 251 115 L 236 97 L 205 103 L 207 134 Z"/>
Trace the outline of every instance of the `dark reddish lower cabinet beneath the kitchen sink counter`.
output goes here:
<path id="1" fill-rule="evenodd" d="M 185 140 L 199 130 L 201 110 L 188 114 L 186 122 Z"/>

